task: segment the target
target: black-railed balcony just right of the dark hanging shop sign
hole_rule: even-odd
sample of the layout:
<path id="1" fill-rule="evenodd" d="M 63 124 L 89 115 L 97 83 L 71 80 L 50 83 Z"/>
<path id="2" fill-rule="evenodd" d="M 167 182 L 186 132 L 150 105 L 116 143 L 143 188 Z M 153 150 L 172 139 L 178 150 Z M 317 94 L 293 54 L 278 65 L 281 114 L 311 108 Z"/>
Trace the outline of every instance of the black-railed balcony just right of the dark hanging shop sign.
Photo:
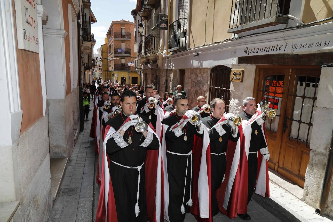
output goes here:
<path id="1" fill-rule="evenodd" d="M 180 52 L 186 49 L 187 19 L 179 18 L 169 24 L 168 52 Z"/>

